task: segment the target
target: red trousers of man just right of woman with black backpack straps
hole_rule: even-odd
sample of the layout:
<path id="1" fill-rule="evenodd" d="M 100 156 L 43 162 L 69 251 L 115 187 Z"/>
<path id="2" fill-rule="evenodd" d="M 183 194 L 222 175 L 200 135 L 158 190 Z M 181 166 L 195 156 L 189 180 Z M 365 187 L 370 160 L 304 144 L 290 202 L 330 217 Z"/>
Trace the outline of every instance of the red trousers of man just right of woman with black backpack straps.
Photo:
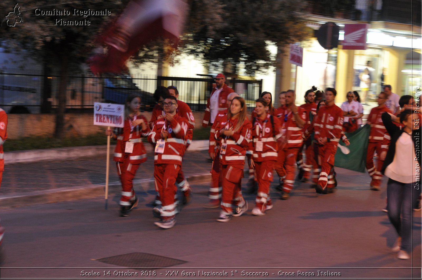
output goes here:
<path id="1" fill-rule="evenodd" d="M 283 163 L 285 178 L 283 179 L 283 191 L 289 193 L 295 183 L 296 157 L 300 147 L 284 148 L 279 151 L 279 162 Z"/>

